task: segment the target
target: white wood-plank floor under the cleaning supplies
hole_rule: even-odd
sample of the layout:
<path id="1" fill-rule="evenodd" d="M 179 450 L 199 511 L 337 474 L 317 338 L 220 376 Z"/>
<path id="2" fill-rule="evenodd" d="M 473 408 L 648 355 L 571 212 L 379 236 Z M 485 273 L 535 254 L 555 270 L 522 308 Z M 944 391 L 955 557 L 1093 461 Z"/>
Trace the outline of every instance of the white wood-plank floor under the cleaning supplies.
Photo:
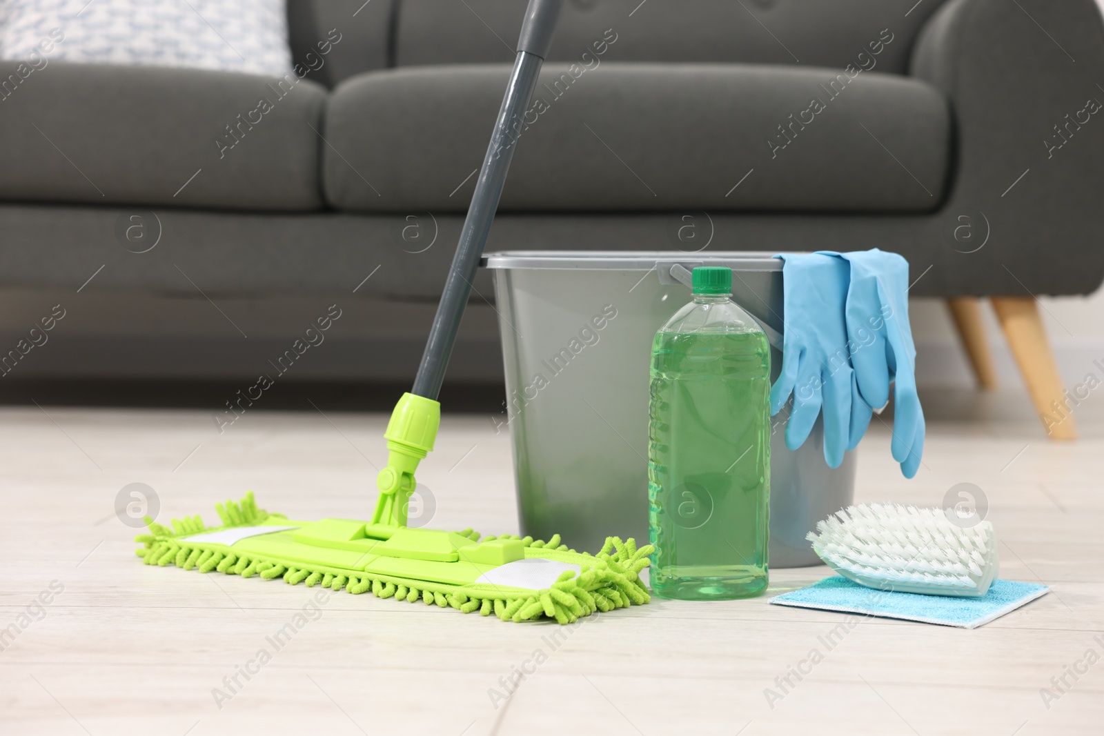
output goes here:
<path id="1" fill-rule="evenodd" d="M 219 436 L 201 412 L 0 409 L 0 626 L 14 625 L 0 643 L 0 733 L 1104 733 L 1104 398 L 1078 409 L 1071 445 L 1045 441 L 1020 394 L 926 406 L 919 477 L 901 478 L 875 426 L 859 499 L 935 505 L 976 483 L 1002 576 L 1053 593 L 974 631 L 863 620 L 830 651 L 818 637 L 842 615 L 765 598 L 654 600 L 554 641 L 551 625 L 346 593 L 316 610 L 318 588 L 146 567 L 113 512 L 127 483 L 156 490 L 162 520 L 213 523 L 214 502 L 247 489 L 291 518 L 363 518 L 385 417 L 254 412 Z M 434 526 L 517 531 L 509 440 L 487 417 L 446 416 L 423 468 Z M 772 570 L 771 593 L 826 574 Z M 51 598 L 51 586 L 63 589 Z M 51 602 L 33 606 L 43 593 Z M 276 649 L 267 638 L 305 606 Z M 814 648 L 824 661 L 772 707 L 765 689 L 779 692 L 775 679 Z M 237 674 L 259 650 L 270 661 Z M 522 668 L 532 674 L 507 696 Z M 1060 692 L 1051 679 L 1063 675 Z M 1059 697 L 1044 702 L 1043 687 Z"/>

